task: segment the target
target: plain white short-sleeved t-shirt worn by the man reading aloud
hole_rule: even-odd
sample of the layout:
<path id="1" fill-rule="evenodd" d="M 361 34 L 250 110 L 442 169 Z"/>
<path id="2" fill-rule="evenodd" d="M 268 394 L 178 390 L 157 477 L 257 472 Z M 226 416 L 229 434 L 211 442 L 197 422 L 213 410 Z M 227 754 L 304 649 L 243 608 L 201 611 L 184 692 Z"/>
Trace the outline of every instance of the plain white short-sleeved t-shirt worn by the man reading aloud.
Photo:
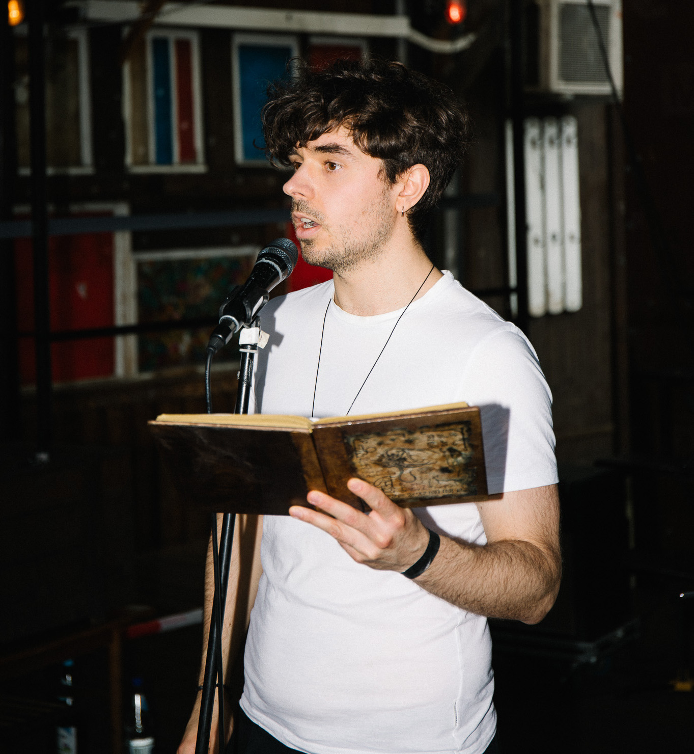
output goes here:
<path id="1" fill-rule="evenodd" d="M 258 410 L 309 416 L 315 387 L 315 416 L 347 412 L 403 310 L 358 317 L 333 293 L 329 281 L 264 308 Z M 482 408 L 489 492 L 557 481 L 552 396 L 532 346 L 447 272 L 405 312 L 351 413 L 462 400 Z M 414 512 L 485 544 L 474 503 Z M 250 719 L 310 754 L 484 752 L 496 725 L 485 618 L 354 562 L 289 516 L 264 517 L 261 560 L 241 698 Z"/>

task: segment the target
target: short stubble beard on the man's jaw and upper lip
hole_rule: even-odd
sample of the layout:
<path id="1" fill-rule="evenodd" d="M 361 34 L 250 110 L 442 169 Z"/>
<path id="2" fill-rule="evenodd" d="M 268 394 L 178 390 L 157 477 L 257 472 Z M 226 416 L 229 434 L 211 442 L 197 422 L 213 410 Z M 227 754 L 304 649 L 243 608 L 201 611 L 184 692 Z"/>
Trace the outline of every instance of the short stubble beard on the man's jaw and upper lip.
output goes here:
<path id="1" fill-rule="evenodd" d="M 347 228 L 335 228 L 333 233 L 333 244 L 327 249 L 316 249 L 313 238 L 301 240 L 301 256 L 310 265 L 325 267 L 338 275 L 353 270 L 362 264 L 362 262 L 371 262 L 378 259 L 384 251 L 387 241 L 390 240 L 395 226 L 395 218 L 391 215 L 390 206 L 387 203 L 388 191 L 385 190 L 382 201 L 371 207 L 368 213 L 365 213 L 361 226 L 367 232 L 355 238 L 355 234 Z M 303 205 L 303 206 L 302 206 Z M 316 218 L 323 227 L 323 218 L 316 216 L 315 212 L 310 211 L 307 202 L 295 201 L 292 204 L 293 212 L 305 212 Z M 342 244 L 341 244 L 342 241 Z"/>

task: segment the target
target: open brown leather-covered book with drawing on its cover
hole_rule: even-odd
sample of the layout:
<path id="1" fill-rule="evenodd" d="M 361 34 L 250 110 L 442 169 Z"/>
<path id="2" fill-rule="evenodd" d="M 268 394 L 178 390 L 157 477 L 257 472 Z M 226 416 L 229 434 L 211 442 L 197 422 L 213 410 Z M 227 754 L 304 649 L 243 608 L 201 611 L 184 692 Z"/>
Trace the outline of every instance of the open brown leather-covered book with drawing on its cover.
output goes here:
<path id="1" fill-rule="evenodd" d="M 363 510 L 359 477 L 405 507 L 484 500 L 479 409 L 466 403 L 313 421 L 272 414 L 163 414 L 149 425 L 188 504 L 286 514 L 311 489 Z"/>

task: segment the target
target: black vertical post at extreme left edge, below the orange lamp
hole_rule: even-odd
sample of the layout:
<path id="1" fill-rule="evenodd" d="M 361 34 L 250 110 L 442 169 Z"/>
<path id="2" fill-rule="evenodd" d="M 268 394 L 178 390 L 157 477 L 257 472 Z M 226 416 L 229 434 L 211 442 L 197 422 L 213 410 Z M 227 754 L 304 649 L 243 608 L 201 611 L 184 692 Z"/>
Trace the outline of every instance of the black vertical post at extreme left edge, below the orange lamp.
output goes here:
<path id="1" fill-rule="evenodd" d="M 0 222 L 12 219 L 17 185 L 14 127 L 14 35 L 8 17 L 0 20 Z M 0 239 L 0 436 L 20 437 L 20 370 L 14 241 Z"/>

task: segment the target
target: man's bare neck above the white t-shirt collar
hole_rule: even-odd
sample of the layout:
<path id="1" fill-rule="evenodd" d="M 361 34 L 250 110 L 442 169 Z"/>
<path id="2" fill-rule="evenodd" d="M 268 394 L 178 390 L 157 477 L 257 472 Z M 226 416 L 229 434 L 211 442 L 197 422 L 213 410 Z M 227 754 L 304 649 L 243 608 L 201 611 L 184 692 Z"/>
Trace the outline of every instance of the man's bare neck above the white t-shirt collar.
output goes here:
<path id="1" fill-rule="evenodd" d="M 376 259 L 343 274 L 335 273 L 335 303 L 360 317 L 386 314 L 408 305 L 425 278 L 417 299 L 441 277 L 439 270 L 432 270 L 429 257 L 414 240 L 409 244 L 391 243 Z"/>

